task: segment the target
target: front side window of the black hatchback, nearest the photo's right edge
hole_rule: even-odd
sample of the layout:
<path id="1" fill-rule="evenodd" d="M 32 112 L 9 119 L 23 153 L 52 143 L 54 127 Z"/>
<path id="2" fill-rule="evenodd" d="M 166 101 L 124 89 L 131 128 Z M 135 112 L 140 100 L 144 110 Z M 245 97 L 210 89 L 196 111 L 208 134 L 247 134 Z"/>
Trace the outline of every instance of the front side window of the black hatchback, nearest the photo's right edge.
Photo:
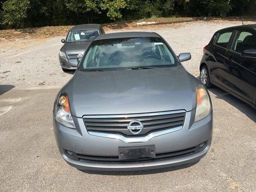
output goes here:
<path id="1" fill-rule="evenodd" d="M 256 49 L 256 37 L 250 32 L 238 31 L 232 50 L 241 53 L 246 49 Z"/>

